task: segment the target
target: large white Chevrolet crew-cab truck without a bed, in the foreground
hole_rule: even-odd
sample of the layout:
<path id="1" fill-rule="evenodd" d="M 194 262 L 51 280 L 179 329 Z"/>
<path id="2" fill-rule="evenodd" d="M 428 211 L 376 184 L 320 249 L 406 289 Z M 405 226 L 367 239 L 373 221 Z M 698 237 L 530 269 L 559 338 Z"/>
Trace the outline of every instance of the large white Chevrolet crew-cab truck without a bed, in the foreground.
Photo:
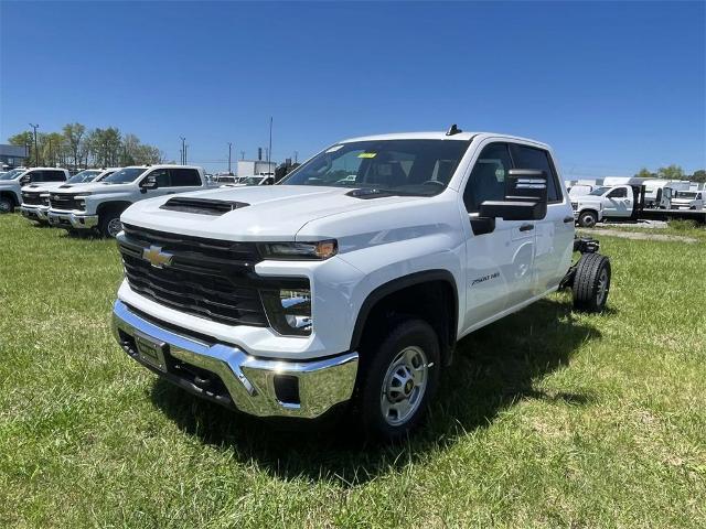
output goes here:
<path id="1" fill-rule="evenodd" d="M 420 423 L 459 338 L 564 287 L 601 311 L 610 287 L 550 148 L 456 126 L 341 141 L 277 185 L 121 222 L 113 330 L 130 357 L 254 415 L 353 409 L 386 440 Z"/>

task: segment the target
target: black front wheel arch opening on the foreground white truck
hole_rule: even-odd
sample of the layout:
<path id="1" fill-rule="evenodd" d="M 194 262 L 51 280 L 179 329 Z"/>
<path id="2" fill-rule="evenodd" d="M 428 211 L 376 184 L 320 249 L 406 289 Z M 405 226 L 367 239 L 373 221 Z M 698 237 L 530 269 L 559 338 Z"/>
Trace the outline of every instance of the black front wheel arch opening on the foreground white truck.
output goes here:
<path id="1" fill-rule="evenodd" d="M 439 289 L 438 287 L 441 287 Z M 459 293 L 456 279 L 448 270 L 425 270 L 410 273 L 383 283 L 374 289 L 363 301 L 357 313 L 351 349 L 357 350 L 365 339 L 368 324 L 375 324 L 375 313 L 393 309 L 409 296 L 424 295 L 426 301 L 439 303 L 441 310 L 434 311 L 428 304 L 424 306 L 405 306 L 400 313 L 417 315 L 428 321 L 439 335 L 440 348 L 445 364 L 450 363 L 451 352 L 456 344 L 459 319 Z"/>

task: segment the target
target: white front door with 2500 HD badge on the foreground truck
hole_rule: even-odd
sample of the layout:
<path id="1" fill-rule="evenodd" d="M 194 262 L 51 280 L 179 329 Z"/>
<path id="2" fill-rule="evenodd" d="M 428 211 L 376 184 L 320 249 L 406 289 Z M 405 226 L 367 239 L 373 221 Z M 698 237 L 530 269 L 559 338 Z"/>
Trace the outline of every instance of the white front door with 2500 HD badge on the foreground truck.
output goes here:
<path id="1" fill-rule="evenodd" d="M 466 330 L 475 327 L 532 295 L 535 235 L 528 223 L 495 219 L 490 233 L 473 227 L 484 201 L 502 201 L 512 169 L 507 143 L 488 141 L 480 147 L 463 190 L 466 259 Z"/>

